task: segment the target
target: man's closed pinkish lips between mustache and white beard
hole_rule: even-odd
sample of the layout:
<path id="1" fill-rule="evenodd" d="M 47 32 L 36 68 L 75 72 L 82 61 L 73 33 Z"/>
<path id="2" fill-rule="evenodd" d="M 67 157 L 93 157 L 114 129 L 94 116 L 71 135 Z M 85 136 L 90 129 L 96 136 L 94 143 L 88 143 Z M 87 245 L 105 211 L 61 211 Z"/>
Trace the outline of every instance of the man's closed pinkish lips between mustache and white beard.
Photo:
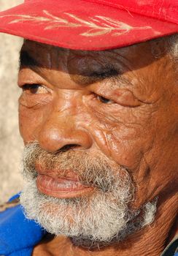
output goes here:
<path id="1" fill-rule="evenodd" d="M 75 178 L 52 178 L 44 174 L 38 174 L 36 186 L 39 192 L 57 198 L 72 198 L 88 196 L 93 192 L 93 187 L 86 187 Z"/>

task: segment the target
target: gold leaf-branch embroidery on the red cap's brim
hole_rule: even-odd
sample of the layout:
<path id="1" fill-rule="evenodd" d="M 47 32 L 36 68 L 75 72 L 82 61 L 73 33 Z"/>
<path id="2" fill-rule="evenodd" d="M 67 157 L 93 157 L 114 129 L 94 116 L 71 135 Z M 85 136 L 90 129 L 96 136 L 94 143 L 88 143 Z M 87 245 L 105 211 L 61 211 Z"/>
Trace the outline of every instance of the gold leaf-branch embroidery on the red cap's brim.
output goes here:
<path id="1" fill-rule="evenodd" d="M 9 17 L 14 18 L 9 21 L 9 24 L 20 23 L 26 21 L 32 21 L 38 24 L 47 24 L 44 30 L 58 29 L 61 27 L 69 28 L 88 28 L 89 30 L 80 34 L 83 37 L 97 37 L 104 34 L 111 34 L 112 36 L 120 36 L 128 33 L 131 30 L 142 30 L 142 29 L 152 29 L 151 26 L 141 26 L 133 27 L 127 23 L 123 23 L 119 20 L 114 20 L 112 18 L 104 17 L 101 15 L 96 15 L 94 17 L 88 17 L 88 20 L 77 17 L 72 13 L 64 12 L 66 18 L 60 18 L 52 15 L 47 10 L 43 10 L 46 17 L 42 16 L 32 16 L 32 15 L 3 15 L 0 18 Z M 70 21 L 69 21 L 70 19 Z M 73 21 L 72 21 L 73 20 Z"/>

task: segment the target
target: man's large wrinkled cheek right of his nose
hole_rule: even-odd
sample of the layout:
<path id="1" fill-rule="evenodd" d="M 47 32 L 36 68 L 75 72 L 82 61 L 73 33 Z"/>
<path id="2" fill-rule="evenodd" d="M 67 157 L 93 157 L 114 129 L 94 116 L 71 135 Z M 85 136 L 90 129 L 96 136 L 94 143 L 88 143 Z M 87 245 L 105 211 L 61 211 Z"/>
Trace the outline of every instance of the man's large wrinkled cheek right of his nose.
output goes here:
<path id="1" fill-rule="evenodd" d="M 91 132 L 98 147 L 107 157 L 131 170 L 136 170 L 154 138 L 148 121 L 150 115 L 137 116 L 125 111 L 115 118 L 106 115 L 92 118 L 95 121 Z"/>

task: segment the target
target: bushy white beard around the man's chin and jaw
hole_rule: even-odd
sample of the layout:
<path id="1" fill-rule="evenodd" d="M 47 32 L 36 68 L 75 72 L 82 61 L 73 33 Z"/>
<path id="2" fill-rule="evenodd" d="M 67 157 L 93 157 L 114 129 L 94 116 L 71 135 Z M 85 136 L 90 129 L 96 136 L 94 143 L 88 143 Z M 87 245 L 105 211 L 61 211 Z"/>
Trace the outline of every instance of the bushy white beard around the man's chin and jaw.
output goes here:
<path id="1" fill-rule="evenodd" d="M 145 204 L 139 210 L 128 208 L 134 192 L 126 170 L 122 169 L 117 177 L 110 170 L 106 175 L 105 170 L 107 184 L 110 184 L 107 191 L 98 189 L 90 197 L 71 199 L 58 199 L 42 194 L 36 187 L 36 177 L 27 173 L 29 174 L 29 170 L 24 169 L 27 182 L 20 195 L 26 217 L 35 219 L 49 233 L 73 238 L 81 246 L 121 241 L 154 219 L 156 200 Z M 102 180 L 98 183 L 101 182 Z M 137 217 L 141 211 L 144 215 Z"/>

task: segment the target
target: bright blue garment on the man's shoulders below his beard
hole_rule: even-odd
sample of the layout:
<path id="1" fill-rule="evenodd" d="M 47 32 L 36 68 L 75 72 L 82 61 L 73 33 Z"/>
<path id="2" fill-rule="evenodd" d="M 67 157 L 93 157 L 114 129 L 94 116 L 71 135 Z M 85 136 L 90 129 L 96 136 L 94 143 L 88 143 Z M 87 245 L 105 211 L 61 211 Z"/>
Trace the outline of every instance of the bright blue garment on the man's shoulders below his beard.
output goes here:
<path id="1" fill-rule="evenodd" d="M 13 204 L 18 197 L 15 195 L 0 209 L 0 256 L 30 256 L 47 234 L 36 222 L 26 219 L 19 203 Z M 177 244 L 178 238 L 174 238 L 160 256 L 178 256 Z"/>

